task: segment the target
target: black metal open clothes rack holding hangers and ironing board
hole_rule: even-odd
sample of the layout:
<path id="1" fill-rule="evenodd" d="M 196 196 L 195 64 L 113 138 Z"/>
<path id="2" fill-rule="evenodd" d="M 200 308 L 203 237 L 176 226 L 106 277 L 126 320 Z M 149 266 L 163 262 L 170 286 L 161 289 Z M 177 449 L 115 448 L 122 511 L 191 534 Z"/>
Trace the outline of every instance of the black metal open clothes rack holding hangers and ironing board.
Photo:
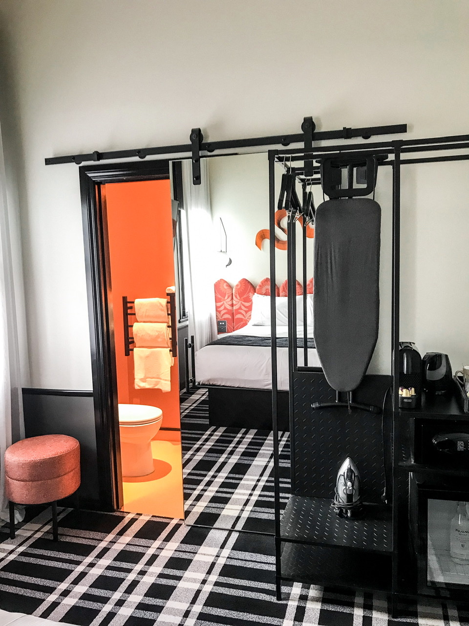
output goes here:
<path id="1" fill-rule="evenodd" d="M 463 153 L 440 154 L 438 151 L 459 150 Z M 436 156 L 401 158 L 403 154 L 434 151 Z M 401 603 L 415 600 L 418 595 L 437 595 L 434 589 L 417 585 L 418 561 L 424 550 L 420 541 L 414 549 L 409 537 L 409 504 L 412 508 L 411 491 L 416 490 L 415 463 L 403 463 L 403 459 L 413 458 L 409 448 L 411 438 L 406 435 L 403 419 L 408 424 L 409 411 L 398 407 L 398 342 L 400 310 L 400 175 L 401 167 L 410 163 L 446 162 L 469 159 L 469 135 L 433 137 L 415 140 L 393 140 L 373 144 L 318 146 L 309 150 L 270 150 L 270 280 L 276 282 L 275 263 L 275 211 L 277 207 L 275 168 L 278 164 L 296 173 L 298 181 L 305 188 L 306 183 L 318 184 L 316 165 L 325 158 L 348 156 L 353 159 L 375 158 L 376 167 L 392 168 L 392 253 L 391 253 L 391 364 L 390 376 L 366 375 L 356 390 L 358 401 L 381 406 L 386 399 L 386 390 L 391 385 L 391 408 L 386 409 L 388 423 L 385 429 L 389 435 L 388 445 L 381 439 L 381 419 L 370 413 L 353 409 L 329 409 L 327 406 L 313 410 L 315 401 L 326 403 L 335 401 L 335 391 L 325 381 L 318 367 L 308 366 L 305 349 L 303 366 L 298 365 L 298 341 L 296 337 L 296 298 L 293 297 L 296 280 L 296 228 L 294 218 L 288 222 L 288 317 L 289 326 L 289 371 L 290 371 L 290 436 L 291 436 L 291 495 L 286 506 L 282 505 L 280 493 L 280 464 L 278 436 L 278 388 L 276 362 L 276 314 L 275 292 L 271 293 L 271 361 L 272 361 L 272 408 L 273 408 L 273 450 L 275 483 L 275 556 L 276 556 L 276 596 L 281 599 L 283 581 L 294 581 L 315 585 L 333 585 L 351 589 L 363 589 L 390 594 L 391 612 L 395 617 Z M 378 158 L 379 157 L 379 158 Z M 311 174 L 311 163 L 315 163 Z M 298 167 L 296 167 L 298 164 Z M 305 170 L 308 177 L 305 177 Z M 349 177 L 350 187 L 350 177 Z M 305 194 L 303 193 L 303 198 Z M 302 224 L 303 283 L 306 277 L 306 235 Z M 306 295 L 303 299 L 304 319 L 306 320 Z M 306 321 L 303 327 L 306 346 Z M 452 406 L 452 405 L 451 405 Z M 441 409 L 443 410 L 443 409 Z M 454 409 L 451 409 L 454 413 Z M 448 409 L 449 411 L 449 409 Z M 434 416 L 428 409 L 426 418 Z M 447 415 L 448 419 L 451 415 Z M 469 416 L 466 416 L 466 419 Z M 461 419 L 461 418 L 460 418 Z M 463 418 L 462 418 L 463 419 Z M 466 427 L 469 428 L 469 419 Z M 343 431 L 343 432 L 341 432 Z M 336 436 L 339 432 L 339 436 Z M 366 441 L 365 435 L 366 433 Z M 391 440 L 393 442 L 391 446 Z M 383 444 L 381 444 L 381 441 Z M 381 449 L 381 445 L 383 448 Z M 369 504 L 361 520 L 338 518 L 331 511 L 333 485 L 338 466 L 331 462 L 333 450 L 342 448 L 341 458 L 348 456 L 348 450 L 355 448 L 361 454 L 360 467 L 366 466 L 366 490 L 363 499 Z M 360 452 L 360 448 L 363 452 Z M 353 456 L 353 453 L 350 454 Z M 318 464 L 315 466 L 315 459 Z M 385 459 L 388 459 L 385 461 Z M 386 465 L 385 465 L 386 463 Z M 319 467 L 318 467 L 319 465 Z M 423 464 L 417 464 L 422 475 Z M 434 478 L 436 469 L 433 468 Z M 326 480 L 321 476 L 326 475 Z M 391 476 L 391 484 L 386 485 L 386 502 L 381 500 L 381 491 L 386 475 Z M 331 476 L 333 477 L 331 480 Z M 448 471 L 441 478 L 448 481 Z M 321 482 L 322 480 L 322 482 Z M 456 480 L 456 479 L 455 479 Z M 446 488 L 448 483 L 446 482 Z M 458 484 L 456 484 L 458 486 Z M 456 487 L 453 487 L 456 493 Z M 366 491 L 366 494 L 365 494 Z M 457 491 L 461 492 L 461 487 Z M 468 490 L 465 490 L 468 493 Z M 449 497 L 449 496 L 448 496 Z M 469 495 L 467 495 L 469 499 Z M 416 518 L 415 518 L 416 519 Z M 418 526 L 418 520 L 414 520 Z M 419 531 L 416 531 L 418 535 Z M 420 530 L 421 533 L 421 530 Z M 420 552 L 419 552 L 420 551 Z M 456 586 L 457 587 L 457 586 Z M 445 588 L 440 597 L 463 601 L 467 598 L 464 590 Z"/>

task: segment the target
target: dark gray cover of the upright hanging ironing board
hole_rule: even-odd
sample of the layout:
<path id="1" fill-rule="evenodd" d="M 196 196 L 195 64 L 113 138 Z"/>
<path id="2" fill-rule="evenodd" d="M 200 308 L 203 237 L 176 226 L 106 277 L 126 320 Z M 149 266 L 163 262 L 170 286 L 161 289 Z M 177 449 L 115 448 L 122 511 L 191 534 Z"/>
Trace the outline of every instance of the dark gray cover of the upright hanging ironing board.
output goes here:
<path id="1" fill-rule="evenodd" d="M 378 339 L 380 239 L 375 200 L 326 200 L 316 209 L 314 337 L 336 391 L 358 387 Z"/>

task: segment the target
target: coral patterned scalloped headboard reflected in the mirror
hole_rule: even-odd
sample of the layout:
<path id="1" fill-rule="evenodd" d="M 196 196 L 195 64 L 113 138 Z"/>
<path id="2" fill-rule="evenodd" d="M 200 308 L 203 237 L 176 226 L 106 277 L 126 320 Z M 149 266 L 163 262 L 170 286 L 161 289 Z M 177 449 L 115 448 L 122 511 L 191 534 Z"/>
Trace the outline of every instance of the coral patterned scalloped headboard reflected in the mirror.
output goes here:
<path id="1" fill-rule="evenodd" d="M 238 280 L 235 287 L 231 287 L 229 282 L 223 278 L 216 281 L 215 289 L 215 311 L 216 320 L 226 321 L 226 332 L 238 331 L 248 324 L 251 319 L 251 310 L 253 308 L 253 295 L 270 295 L 270 279 L 261 280 L 258 286 L 254 285 L 247 279 Z M 286 280 L 280 289 L 275 285 L 275 295 L 287 295 Z M 313 293 L 313 279 L 310 278 L 306 283 L 306 293 Z M 303 294 L 301 283 L 296 281 L 296 295 Z"/>

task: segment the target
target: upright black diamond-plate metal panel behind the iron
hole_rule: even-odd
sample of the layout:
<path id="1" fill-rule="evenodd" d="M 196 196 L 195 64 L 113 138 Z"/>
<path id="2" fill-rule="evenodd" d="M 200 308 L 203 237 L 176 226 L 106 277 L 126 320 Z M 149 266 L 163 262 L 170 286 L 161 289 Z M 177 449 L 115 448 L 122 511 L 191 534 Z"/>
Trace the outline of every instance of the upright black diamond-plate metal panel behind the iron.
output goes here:
<path id="1" fill-rule="evenodd" d="M 382 406 L 390 382 L 390 376 L 365 376 L 354 399 Z M 381 414 L 360 409 L 349 413 L 348 408 L 313 409 L 313 402 L 335 400 L 335 390 L 322 373 L 293 372 L 292 385 L 293 493 L 333 498 L 337 471 L 350 456 L 360 471 L 363 500 L 380 503 L 385 484 Z M 386 445 L 390 446 L 388 435 Z"/>

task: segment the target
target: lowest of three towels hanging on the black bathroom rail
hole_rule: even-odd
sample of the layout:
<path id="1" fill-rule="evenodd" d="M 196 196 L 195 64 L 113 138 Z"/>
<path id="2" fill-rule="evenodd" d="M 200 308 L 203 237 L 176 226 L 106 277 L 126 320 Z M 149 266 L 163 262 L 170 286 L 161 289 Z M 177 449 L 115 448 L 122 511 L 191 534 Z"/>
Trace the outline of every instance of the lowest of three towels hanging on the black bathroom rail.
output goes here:
<path id="1" fill-rule="evenodd" d="M 134 348 L 135 389 L 171 391 L 171 365 L 168 348 Z"/>

